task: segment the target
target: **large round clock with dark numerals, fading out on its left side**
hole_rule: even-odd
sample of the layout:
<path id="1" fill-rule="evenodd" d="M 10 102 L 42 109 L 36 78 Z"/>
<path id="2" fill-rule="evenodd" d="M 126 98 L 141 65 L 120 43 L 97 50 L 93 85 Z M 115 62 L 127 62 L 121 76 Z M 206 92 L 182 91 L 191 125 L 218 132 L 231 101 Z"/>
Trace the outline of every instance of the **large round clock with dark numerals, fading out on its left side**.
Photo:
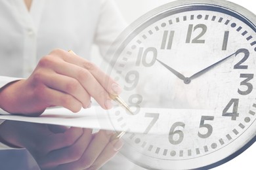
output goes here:
<path id="1" fill-rule="evenodd" d="M 116 107 L 111 120 L 129 132 L 122 151 L 129 160 L 195 169 L 255 140 L 254 14 L 225 1 L 177 1 L 128 30 L 110 75 L 135 113 Z"/>

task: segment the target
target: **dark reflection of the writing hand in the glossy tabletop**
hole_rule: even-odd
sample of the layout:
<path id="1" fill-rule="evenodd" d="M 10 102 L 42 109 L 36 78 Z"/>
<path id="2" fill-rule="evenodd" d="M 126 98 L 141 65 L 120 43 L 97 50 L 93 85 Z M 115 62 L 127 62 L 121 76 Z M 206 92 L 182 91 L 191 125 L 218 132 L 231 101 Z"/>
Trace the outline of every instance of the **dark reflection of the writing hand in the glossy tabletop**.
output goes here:
<path id="1" fill-rule="evenodd" d="M 0 126 L 3 143 L 26 148 L 41 169 L 99 169 L 123 145 L 110 131 L 48 126 L 6 120 Z M 57 129 L 57 130 L 56 130 Z"/>

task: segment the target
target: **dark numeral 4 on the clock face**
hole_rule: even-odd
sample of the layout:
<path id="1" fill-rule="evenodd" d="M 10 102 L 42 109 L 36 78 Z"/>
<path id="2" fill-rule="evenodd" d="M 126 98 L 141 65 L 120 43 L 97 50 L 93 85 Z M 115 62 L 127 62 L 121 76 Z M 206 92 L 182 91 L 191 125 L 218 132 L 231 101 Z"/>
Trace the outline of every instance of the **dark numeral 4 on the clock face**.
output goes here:
<path id="1" fill-rule="evenodd" d="M 228 105 L 226 105 L 226 107 L 223 110 L 223 116 L 230 116 L 231 120 L 236 120 L 236 117 L 239 116 L 238 103 L 239 103 L 239 99 L 231 99 Z M 232 107 L 232 105 L 233 105 L 232 112 L 228 112 L 228 110 L 230 109 L 230 107 Z"/>

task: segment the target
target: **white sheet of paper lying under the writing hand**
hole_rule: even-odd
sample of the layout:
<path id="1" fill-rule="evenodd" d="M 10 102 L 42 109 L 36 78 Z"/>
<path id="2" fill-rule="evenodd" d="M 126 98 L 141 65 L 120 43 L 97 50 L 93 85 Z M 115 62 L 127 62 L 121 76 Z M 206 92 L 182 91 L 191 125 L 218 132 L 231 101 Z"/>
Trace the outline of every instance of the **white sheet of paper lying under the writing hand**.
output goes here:
<path id="1" fill-rule="evenodd" d="M 55 108 L 45 110 L 38 117 L 0 115 L 0 119 L 159 135 L 169 133 L 169 124 L 175 119 L 173 114 L 184 118 L 195 117 L 192 115 L 200 115 L 202 112 L 204 115 L 213 114 L 211 110 L 140 108 L 139 114 L 129 115 L 121 107 L 104 110 L 93 106 L 77 113 L 64 108 Z"/>

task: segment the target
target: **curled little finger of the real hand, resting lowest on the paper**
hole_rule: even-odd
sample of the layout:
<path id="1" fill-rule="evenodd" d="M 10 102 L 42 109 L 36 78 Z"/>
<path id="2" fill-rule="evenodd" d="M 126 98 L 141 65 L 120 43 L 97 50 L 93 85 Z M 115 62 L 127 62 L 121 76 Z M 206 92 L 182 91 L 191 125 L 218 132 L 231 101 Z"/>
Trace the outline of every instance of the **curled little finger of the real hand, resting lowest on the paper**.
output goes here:
<path id="1" fill-rule="evenodd" d="M 47 86 L 38 88 L 37 91 L 38 92 L 36 93 L 39 99 L 43 100 L 43 103 L 47 103 L 48 106 L 62 106 L 68 110 L 71 110 L 72 112 L 78 112 L 79 110 L 81 110 L 82 103 L 68 93 L 53 90 L 51 88 L 48 88 Z"/>

